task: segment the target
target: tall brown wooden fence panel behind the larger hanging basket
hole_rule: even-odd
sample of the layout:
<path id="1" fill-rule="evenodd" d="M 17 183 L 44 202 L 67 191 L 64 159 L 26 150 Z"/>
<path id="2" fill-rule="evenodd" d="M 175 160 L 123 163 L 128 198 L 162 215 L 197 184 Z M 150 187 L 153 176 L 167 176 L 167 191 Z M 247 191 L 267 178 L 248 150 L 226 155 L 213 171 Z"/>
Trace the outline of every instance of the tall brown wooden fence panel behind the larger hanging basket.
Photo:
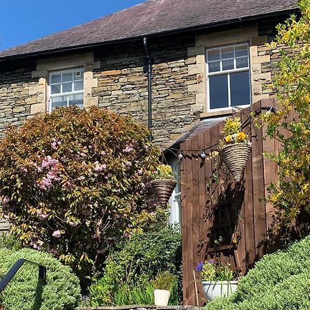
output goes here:
<path id="1" fill-rule="evenodd" d="M 264 99 L 252 105 L 251 110 L 271 105 L 276 105 L 275 99 Z M 238 265 L 238 256 L 242 273 L 253 267 L 254 262 L 269 249 L 266 236 L 273 225 L 273 209 L 260 199 L 265 198 L 266 187 L 276 180 L 278 170 L 276 163 L 264 158 L 262 153 L 278 152 L 279 145 L 276 141 L 262 139 L 265 129 L 256 129 L 251 125 L 249 111 L 243 110 L 236 116 L 240 116 L 242 123 L 245 123 L 243 130 L 251 136 L 252 142 L 242 183 L 234 183 L 225 166 L 220 168 L 223 171 L 218 183 L 210 183 L 211 174 L 217 167 L 216 158 L 203 161 L 199 156 L 203 149 L 207 154 L 217 149 L 218 141 L 223 138 L 224 121 L 180 145 L 185 155 L 181 163 L 185 304 L 202 304 L 200 279 L 194 269 L 198 262 L 212 257 L 212 249 L 218 244 L 216 242 L 224 242 L 221 247 L 224 249 L 221 256 L 224 262 Z M 210 193 L 215 197 L 214 207 L 208 203 Z M 219 241 L 219 237 L 223 241 Z M 238 255 L 233 249 L 236 249 Z"/>

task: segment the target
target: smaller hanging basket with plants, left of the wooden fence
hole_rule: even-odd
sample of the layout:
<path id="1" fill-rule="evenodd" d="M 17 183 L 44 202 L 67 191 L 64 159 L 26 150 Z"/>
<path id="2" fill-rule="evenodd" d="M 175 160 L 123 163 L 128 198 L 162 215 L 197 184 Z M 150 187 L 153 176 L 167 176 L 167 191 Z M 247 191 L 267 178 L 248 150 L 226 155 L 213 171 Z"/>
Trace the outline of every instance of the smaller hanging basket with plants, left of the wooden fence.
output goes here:
<path id="1" fill-rule="evenodd" d="M 174 187 L 176 187 L 172 167 L 163 164 L 158 165 L 154 171 L 154 180 L 151 181 L 151 185 L 161 205 L 163 207 L 167 205 Z"/>

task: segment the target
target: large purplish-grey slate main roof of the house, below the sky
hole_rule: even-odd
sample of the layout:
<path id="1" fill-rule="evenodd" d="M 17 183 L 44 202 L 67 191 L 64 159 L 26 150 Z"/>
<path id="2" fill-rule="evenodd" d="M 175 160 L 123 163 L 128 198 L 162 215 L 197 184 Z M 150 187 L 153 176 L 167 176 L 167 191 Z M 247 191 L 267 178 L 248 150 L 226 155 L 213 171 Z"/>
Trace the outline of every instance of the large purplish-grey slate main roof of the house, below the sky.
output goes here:
<path id="1" fill-rule="evenodd" d="M 297 0 L 149 0 L 107 17 L 2 51 L 0 60 L 184 28 L 190 30 L 296 8 Z"/>

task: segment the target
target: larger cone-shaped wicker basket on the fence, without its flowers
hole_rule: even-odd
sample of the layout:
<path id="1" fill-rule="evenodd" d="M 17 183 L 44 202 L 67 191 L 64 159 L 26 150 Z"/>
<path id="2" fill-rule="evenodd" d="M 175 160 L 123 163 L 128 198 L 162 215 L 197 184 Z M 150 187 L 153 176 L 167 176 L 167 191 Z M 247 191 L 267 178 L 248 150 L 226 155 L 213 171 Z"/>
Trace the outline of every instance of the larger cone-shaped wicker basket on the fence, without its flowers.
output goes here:
<path id="1" fill-rule="evenodd" d="M 251 153 L 251 145 L 249 143 L 229 144 L 222 147 L 219 153 L 236 182 L 240 182 Z"/>

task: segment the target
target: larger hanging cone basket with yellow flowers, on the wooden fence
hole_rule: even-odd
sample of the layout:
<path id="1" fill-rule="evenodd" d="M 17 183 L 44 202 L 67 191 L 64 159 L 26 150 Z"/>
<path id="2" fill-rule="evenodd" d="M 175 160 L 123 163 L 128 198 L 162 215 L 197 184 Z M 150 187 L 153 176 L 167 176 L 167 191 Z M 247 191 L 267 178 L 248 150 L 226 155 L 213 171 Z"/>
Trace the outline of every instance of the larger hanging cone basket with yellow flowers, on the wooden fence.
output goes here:
<path id="1" fill-rule="evenodd" d="M 240 117 L 227 118 L 222 132 L 224 140 L 219 143 L 220 158 L 236 182 L 240 182 L 251 153 L 249 137 L 241 131 Z"/>

